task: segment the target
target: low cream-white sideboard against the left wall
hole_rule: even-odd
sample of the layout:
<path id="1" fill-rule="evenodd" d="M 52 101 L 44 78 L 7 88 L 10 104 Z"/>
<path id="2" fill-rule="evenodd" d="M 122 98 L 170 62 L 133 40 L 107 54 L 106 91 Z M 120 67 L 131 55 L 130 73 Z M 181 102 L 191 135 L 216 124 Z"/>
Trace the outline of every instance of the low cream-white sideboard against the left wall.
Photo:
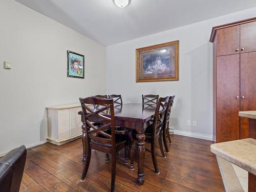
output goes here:
<path id="1" fill-rule="evenodd" d="M 80 103 L 48 106 L 48 137 L 50 143 L 62 145 L 82 135 L 82 122 L 78 112 Z"/>

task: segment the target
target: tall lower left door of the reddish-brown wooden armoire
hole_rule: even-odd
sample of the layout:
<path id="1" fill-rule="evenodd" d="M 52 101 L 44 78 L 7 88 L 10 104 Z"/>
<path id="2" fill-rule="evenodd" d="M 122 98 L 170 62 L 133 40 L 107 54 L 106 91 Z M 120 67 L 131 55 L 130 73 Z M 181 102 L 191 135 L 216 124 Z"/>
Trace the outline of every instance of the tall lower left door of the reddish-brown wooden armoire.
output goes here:
<path id="1" fill-rule="evenodd" d="M 240 138 L 240 55 L 217 57 L 217 142 Z"/>

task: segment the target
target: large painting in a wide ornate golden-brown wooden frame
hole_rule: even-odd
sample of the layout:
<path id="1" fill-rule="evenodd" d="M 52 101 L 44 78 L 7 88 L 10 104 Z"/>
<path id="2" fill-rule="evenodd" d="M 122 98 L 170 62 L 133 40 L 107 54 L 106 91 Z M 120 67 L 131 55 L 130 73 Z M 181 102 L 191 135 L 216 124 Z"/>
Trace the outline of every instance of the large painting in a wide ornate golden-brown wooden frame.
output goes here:
<path id="1" fill-rule="evenodd" d="M 179 40 L 136 49 L 136 82 L 179 80 Z"/>

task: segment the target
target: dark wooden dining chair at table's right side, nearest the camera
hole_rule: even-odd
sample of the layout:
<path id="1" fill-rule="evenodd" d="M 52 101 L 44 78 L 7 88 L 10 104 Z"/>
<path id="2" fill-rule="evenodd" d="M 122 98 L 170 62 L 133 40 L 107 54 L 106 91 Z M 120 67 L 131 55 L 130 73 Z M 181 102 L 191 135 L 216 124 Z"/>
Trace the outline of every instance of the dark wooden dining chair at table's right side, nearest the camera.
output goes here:
<path id="1" fill-rule="evenodd" d="M 158 140 L 159 148 L 163 158 L 165 157 L 162 145 L 162 127 L 163 127 L 163 119 L 166 111 L 166 106 L 168 103 L 168 96 L 167 97 L 160 97 L 158 99 L 156 105 L 156 111 L 154 115 L 153 123 L 151 123 L 145 130 L 145 142 L 151 143 L 151 156 L 152 161 L 154 164 L 156 174 L 159 174 L 159 169 L 157 166 L 157 158 L 156 158 L 156 141 Z M 136 135 L 133 134 L 135 137 Z M 131 164 L 133 164 L 133 158 L 131 158 Z"/>

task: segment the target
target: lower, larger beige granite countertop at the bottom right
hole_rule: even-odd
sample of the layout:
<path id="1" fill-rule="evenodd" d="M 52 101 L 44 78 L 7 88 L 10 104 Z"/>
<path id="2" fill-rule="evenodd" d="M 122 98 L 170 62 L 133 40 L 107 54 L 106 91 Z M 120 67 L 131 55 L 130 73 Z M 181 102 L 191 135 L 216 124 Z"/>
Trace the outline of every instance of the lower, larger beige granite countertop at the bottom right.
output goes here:
<path id="1" fill-rule="evenodd" d="M 240 139 L 210 145 L 217 156 L 256 175 L 256 139 Z"/>

